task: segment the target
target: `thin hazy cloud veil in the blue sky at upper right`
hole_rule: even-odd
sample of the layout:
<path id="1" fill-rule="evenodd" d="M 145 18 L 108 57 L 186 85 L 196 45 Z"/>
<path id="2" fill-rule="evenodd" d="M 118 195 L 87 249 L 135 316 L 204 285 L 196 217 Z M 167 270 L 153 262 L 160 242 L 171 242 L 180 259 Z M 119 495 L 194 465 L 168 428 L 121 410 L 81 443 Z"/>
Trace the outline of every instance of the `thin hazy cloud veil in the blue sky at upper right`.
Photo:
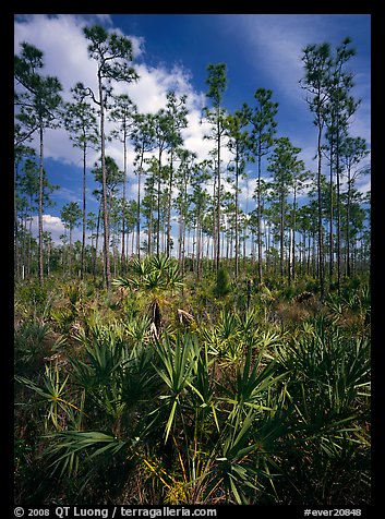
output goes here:
<path id="1" fill-rule="evenodd" d="M 251 64 L 251 76 L 263 73 L 270 79 L 269 84 L 261 85 L 279 94 L 280 99 L 290 102 L 292 124 L 285 128 L 290 135 L 299 135 L 300 147 L 314 142 L 316 136 L 309 131 L 308 142 L 303 142 L 305 132 L 303 125 L 311 128 L 312 116 L 304 101 L 304 92 L 299 86 L 299 81 L 304 75 L 302 63 L 303 48 L 309 44 L 329 41 L 334 47 L 339 45 L 346 34 L 340 34 L 344 20 L 339 15 L 314 14 L 246 14 L 224 15 L 222 20 L 229 25 L 234 37 L 244 41 L 249 48 L 248 57 Z M 354 40 L 352 41 L 354 47 Z M 352 118 L 350 131 L 352 135 L 361 136 L 371 143 L 371 108 L 370 108 L 370 60 L 362 60 L 360 55 L 352 58 L 347 64 L 348 70 L 354 72 L 356 99 L 364 99 Z M 278 106 L 278 118 L 284 110 L 284 102 Z M 286 123 L 287 124 L 287 123 Z M 282 126 L 278 126 L 281 131 Z M 306 161 L 306 167 L 310 162 Z"/>

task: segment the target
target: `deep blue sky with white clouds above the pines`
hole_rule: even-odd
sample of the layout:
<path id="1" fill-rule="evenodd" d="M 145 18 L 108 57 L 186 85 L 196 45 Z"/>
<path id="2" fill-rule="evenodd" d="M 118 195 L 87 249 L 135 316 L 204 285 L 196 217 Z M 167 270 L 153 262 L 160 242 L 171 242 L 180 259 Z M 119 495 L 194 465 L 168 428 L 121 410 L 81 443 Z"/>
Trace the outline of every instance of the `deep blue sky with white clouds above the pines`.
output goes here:
<path id="1" fill-rule="evenodd" d="M 115 93 L 128 94 L 139 111 L 155 113 L 165 107 L 166 95 L 188 95 L 188 128 L 184 146 L 207 157 L 213 142 L 204 140 L 208 132 L 201 124 L 202 108 L 207 104 L 207 65 L 227 64 L 227 90 L 224 106 L 229 112 L 251 107 L 257 88 L 273 90 L 278 102 L 276 136 L 289 136 L 301 148 L 306 168 L 315 170 L 316 128 L 299 86 L 303 77 L 302 49 L 309 44 L 328 41 L 336 48 L 346 36 L 352 38 L 357 55 L 348 69 L 354 74 L 352 95 L 361 99 L 354 113 L 350 134 L 365 138 L 371 146 L 371 15 L 370 14 L 15 14 L 14 53 L 27 41 L 44 52 L 44 75 L 55 75 L 63 86 L 62 97 L 71 100 L 70 89 L 77 82 L 96 89 L 96 62 L 88 57 L 88 41 L 83 27 L 103 25 L 110 32 L 128 36 L 133 44 L 137 83 L 115 85 Z M 33 143 L 34 146 L 37 142 Z M 51 232 L 56 243 L 65 232 L 60 210 L 69 202 L 82 206 L 82 153 L 74 148 L 63 129 L 48 130 L 45 136 L 45 169 L 51 184 L 60 185 L 52 194 L 55 206 L 47 207 L 44 230 Z M 123 168 L 123 149 L 118 141 L 108 144 L 107 155 Z M 224 162 L 230 159 L 224 150 Z M 129 148 L 128 196 L 136 196 L 137 181 L 132 170 Z M 97 154 L 88 156 L 87 212 L 97 213 L 92 192 L 96 188 L 91 169 Z M 368 164 L 369 159 L 365 160 Z M 131 162 L 131 164 L 130 164 Z M 241 206 L 252 208 L 255 166 L 248 166 L 249 180 L 243 180 Z M 362 178 L 357 188 L 370 190 L 370 178 Z M 37 216 L 33 232 L 37 236 Z M 175 236 L 177 229 L 173 228 Z M 73 232 L 81 240 L 81 228 Z"/>

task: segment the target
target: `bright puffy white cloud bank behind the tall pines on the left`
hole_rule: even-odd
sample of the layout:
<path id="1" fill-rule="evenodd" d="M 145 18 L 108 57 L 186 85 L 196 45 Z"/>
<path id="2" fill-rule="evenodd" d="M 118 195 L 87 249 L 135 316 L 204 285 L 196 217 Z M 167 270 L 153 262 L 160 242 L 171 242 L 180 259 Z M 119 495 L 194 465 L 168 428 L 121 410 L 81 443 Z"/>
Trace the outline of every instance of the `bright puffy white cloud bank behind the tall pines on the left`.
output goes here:
<path id="1" fill-rule="evenodd" d="M 15 53 L 20 51 L 23 41 L 27 41 L 44 52 L 44 74 L 57 76 L 63 86 L 63 98 L 71 99 L 70 89 L 77 82 L 89 86 L 96 92 L 96 63 L 88 57 L 88 41 L 83 35 L 83 27 L 93 23 L 111 25 L 109 15 L 82 15 L 72 14 L 31 14 L 19 17 L 14 26 Z M 120 29 L 115 29 L 122 34 Z M 144 53 L 144 38 L 130 36 L 133 43 L 134 56 Z M 167 93 L 175 90 L 178 96 L 188 95 L 187 106 L 190 110 L 188 116 L 189 128 L 184 131 L 185 145 L 192 152 L 197 153 L 203 159 L 213 147 L 209 141 L 203 141 L 204 129 L 200 125 L 201 108 L 204 95 L 194 92 L 189 71 L 181 65 L 167 69 L 165 65 L 149 67 L 145 63 L 133 65 L 140 76 L 135 83 L 115 84 L 115 93 L 127 93 L 137 105 L 140 112 L 155 113 L 164 108 L 167 102 Z M 112 124 L 107 122 L 107 132 Z M 33 142 L 37 147 L 37 136 Z M 123 149 L 119 142 L 107 145 L 107 154 L 111 155 L 123 168 Z M 45 157 L 51 157 L 64 164 L 80 165 L 81 152 L 73 147 L 64 129 L 47 130 L 45 134 Z M 88 165 L 93 165 L 98 154 L 89 150 Z M 128 160 L 132 162 L 134 152 L 129 145 Z M 129 171 L 130 174 L 130 171 Z"/>

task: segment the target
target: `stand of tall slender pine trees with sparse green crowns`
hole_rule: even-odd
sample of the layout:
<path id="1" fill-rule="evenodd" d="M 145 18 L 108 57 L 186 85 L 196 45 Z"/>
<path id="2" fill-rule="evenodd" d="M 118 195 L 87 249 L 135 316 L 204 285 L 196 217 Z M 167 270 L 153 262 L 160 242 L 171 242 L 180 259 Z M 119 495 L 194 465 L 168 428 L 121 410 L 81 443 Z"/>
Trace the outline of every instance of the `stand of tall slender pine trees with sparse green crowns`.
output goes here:
<path id="1" fill-rule="evenodd" d="M 184 146 L 188 97 L 167 93 L 165 107 L 141 113 L 128 94 L 115 94 L 117 82 L 140 81 L 134 69 L 132 43 L 101 26 L 84 28 L 88 56 L 97 64 L 97 89 L 76 83 L 71 100 L 62 98 L 58 77 L 44 75 L 44 53 L 23 43 L 14 57 L 14 254 L 16 278 L 35 275 L 40 283 L 52 269 L 77 273 L 83 278 L 101 274 L 107 289 L 111 276 L 125 271 L 131 256 L 175 254 L 182 270 L 202 277 L 204 265 L 218 273 L 231 265 L 239 277 L 241 262 L 255 264 L 257 281 L 275 273 L 291 282 L 298 273 L 312 274 L 324 298 L 327 280 L 340 290 L 341 277 L 366 269 L 370 258 L 369 195 L 357 189 L 370 173 L 362 167 L 369 155 L 362 137 L 349 132 L 360 100 L 352 96 L 354 56 L 350 38 L 335 49 L 327 43 L 302 50 L 300 86 L 313 114 L 316 170 L 309 171 L 301 148 L 289 136 L 277 137 L 278 102 L 273 92 L 257 88 L 254 104 L 229 112 L 225 107 L 226 63 L 207 67 L 207 106 L 202 123 L 213 143 L 209 157 L 198 160 Z M 106 122 L 113 131 L 107 134 Z M 82 206 L 64 205 L 61 220 L 69 231 L 63 245 L 53 246 L 44 231 L 44 210 L 58 188 L 45 170 L 45 132 L 62 126 L 83 157 Z M 38 148 L 29 146 L 38 136 Z M 108 155 L 108 142 L 120 142 L 122 169 Z M 128 200 L 128 152 L 137 177 L 137 193 Z M 224 148 L 231 160 L 225 164 Z M 88 155 L 99 160 L 92 174 L 98 185 L 98 212 L 87 212 Z M 240 204 L 241 183 L 255 165 L 255 189 L 246 208 Z M 308 196 L 299 204 L 301 195 Z M 38 214 L 38 240 L 32 219 Z M 171 233 L 176 224 L 178 243 Z M 72 231 L 81 225 L 82 242 Z M 91 245 L 87 244 L 87 231 Z M 100 246 L 101 243 L 101 246 Z"/>

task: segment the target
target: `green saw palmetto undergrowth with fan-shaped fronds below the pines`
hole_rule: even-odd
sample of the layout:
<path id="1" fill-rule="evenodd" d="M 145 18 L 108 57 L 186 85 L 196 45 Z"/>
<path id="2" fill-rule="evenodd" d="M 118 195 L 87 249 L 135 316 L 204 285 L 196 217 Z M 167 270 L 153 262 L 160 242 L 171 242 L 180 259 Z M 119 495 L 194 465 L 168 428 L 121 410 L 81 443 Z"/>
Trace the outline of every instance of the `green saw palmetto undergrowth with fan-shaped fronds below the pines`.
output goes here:
<path id="1" fill-rule="evenodd" d="M 369 279 L 15 285 L 15 503 L 370 503 Z"/>

